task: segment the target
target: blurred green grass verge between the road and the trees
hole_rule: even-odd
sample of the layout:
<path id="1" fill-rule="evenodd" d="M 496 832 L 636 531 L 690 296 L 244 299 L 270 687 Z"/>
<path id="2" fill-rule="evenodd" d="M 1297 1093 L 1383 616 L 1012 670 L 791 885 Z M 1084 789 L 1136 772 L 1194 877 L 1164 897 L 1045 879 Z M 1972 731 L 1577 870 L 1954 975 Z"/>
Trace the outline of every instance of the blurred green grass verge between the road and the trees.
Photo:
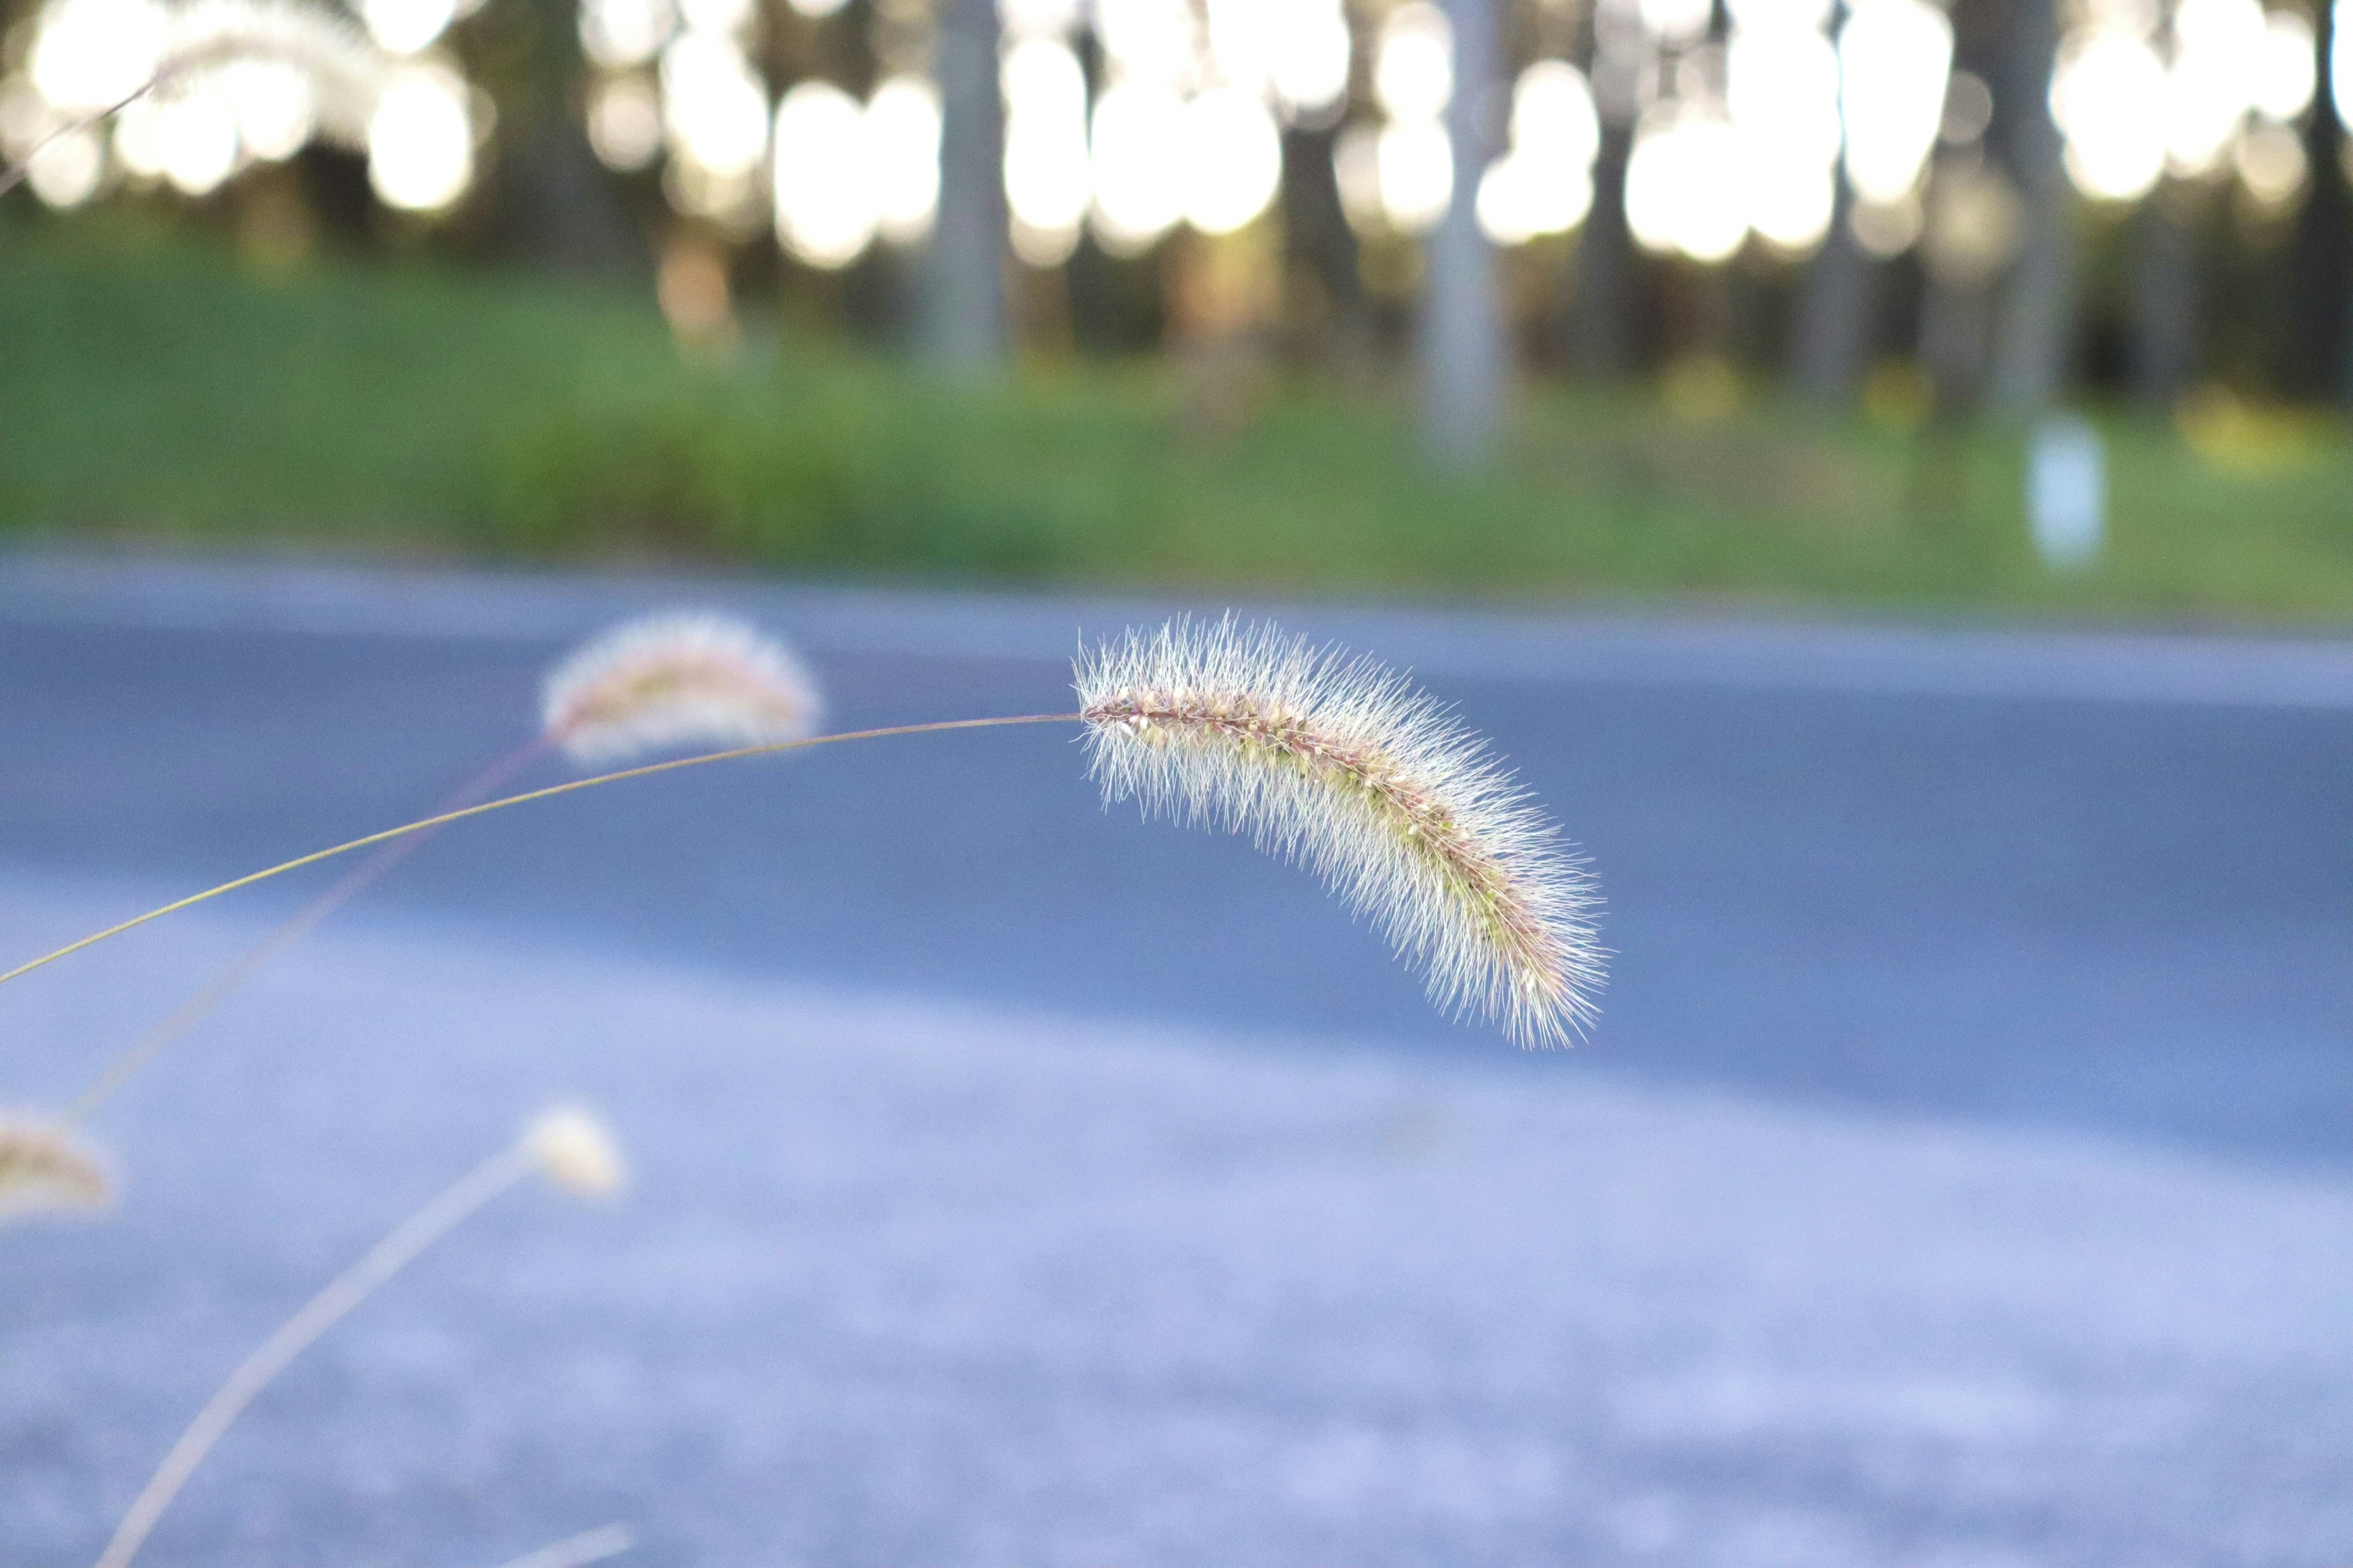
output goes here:
<path id="1" fill-rule="evenodd" d="M 2339 423 L 2231 425 L 2200 456 L 2108 421 L 2113 548 L 2054 576 L 1998 433 L 1541 393 L 1492 470 L 1449 477 L 1414 458 L 1395 397 L 1209 376 L 1064 364 L 948 388 L 776 334 L 699 364 L 649 306 L 534 280 L 266 275 L 172 235 L 0 228 L 0 517 L 19 531 L 1440 597 L 2353 611 Z"/>

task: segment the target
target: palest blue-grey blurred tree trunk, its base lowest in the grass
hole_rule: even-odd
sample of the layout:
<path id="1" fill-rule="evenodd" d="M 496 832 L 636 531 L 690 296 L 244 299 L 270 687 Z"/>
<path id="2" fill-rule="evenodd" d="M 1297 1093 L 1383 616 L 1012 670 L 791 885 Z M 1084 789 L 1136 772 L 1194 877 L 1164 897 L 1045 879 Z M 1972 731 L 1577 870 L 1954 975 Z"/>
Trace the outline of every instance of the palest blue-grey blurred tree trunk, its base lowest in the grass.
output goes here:
<path id="1" fill-rule="evenodd" d="M 1494 150 L 1501 40 L 1497 0 L 1445 0 L 1454 24 L 1454 200 L 1428 237 L 1421 296 L 1421 440 L 1431 456 L 1468 463 L 1494 444 L 1508 376 L 1494 249 L 1478 226 L 1478 181 Z"/>

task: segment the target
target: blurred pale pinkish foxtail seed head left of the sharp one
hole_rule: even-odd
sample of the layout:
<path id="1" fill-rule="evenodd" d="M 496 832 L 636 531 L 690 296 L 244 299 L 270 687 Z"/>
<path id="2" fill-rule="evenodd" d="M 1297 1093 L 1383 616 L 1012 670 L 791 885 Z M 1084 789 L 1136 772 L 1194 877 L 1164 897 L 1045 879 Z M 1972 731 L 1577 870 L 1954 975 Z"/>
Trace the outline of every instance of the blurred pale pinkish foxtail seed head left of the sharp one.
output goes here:
<path id="1" fill-rule="evenodd" d="M 767 745 L 816 733 L 816 679 L 779 639 L 727 616 L 619 625 L 548 672 L 541 726 L 581 764 L 685 745 Z"/>

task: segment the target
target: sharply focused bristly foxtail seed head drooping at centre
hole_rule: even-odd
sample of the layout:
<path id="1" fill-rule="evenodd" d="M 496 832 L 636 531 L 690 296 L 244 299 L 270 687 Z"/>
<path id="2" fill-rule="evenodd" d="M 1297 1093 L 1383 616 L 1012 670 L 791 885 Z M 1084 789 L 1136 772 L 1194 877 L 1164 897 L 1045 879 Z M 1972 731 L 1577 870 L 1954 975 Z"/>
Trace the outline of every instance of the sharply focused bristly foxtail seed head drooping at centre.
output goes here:
<path id="1" fill-rule="evenodd" d="M 1313 867 L 1440 1009 L 1525 1046 L 1593 1023 L 1593 879 L 1487 743 L 1398 675 L 1228 616 L 1092 649 L 1078 701 L 1106 804 Z"/>

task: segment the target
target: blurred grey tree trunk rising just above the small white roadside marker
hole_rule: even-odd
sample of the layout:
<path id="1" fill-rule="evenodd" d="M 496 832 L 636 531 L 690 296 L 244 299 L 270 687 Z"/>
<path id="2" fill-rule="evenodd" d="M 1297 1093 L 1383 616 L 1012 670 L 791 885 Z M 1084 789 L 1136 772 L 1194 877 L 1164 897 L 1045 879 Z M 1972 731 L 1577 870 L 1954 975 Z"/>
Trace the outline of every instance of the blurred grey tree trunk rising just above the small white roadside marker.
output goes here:
<path id="1" fill-rule="evenodd" d="M 2075 209 L 2049 110 L 2052 63 L 2059 56 L 2057 0 L 2017 0 L 2007 33 L 2009 56 L 1993 101 L 2021 223 L 1993 346 L 1991 393 L 1995 407 L 2009 414 L 2035 414 L 2059 395 L 2075 334 Z"/>

